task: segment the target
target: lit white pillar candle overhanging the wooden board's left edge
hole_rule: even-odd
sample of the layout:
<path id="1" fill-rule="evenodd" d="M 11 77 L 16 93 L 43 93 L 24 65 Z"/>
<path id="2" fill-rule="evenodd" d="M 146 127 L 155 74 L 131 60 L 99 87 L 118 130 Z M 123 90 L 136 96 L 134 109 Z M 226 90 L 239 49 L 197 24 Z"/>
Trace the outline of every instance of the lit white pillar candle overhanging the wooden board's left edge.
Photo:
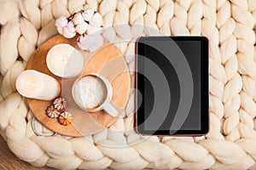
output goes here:
<path id="1" fill-rule="evenodd" d="M 26 98 L 43 100 L 55 99 L 61 92 L 55 78 L 34 70 L 21 72 L 16 80 L 16 88 Z"/>

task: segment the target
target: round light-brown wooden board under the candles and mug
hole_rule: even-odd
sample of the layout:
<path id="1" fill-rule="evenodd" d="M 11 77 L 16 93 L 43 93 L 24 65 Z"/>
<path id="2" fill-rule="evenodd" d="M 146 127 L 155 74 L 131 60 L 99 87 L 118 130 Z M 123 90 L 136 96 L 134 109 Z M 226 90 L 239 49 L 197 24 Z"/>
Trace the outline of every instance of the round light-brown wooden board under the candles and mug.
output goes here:
<path id="1" fill-rule="evenodd" d="M 45 127 L 67 136 L 81 137 L 102 131 L 103 128 L 109 127 L 115 122 L 119 116 L 110 116 L 106 111 L 97 111 L 95 113 L 88 113 L 79 109 L 72 98 L 73 82 L 78 77 L 69 79 L 57 77 L 52 74 L 46 65 L 46 55 L 50 48 L 59 43 L 68 43 L 74 48 L 77 48 L 81 54 L 84 55 L 84 73 L 102 74 L 111 82 L 113 88 L 112 105 L 119 111 L 119 115 L 125 109 L 125 105 L 129 99 L 131 89 L 131 76 L 125 59 L 119 50 L 114 47 L 112 43 L 104 40 L 102 48 L 95 53 L 80 50 L 77 46 L 77 37 L 67 39 L 61 35 L 52 37 L 47 42 L 44 42 L 32 54 L 32 57 L 27 63 L 27 68 L 43 72 L 51 77 L 54 77 L 61 84 L 61 94 L 63 98 L 67 99 L 67 111 L 73 115 L 73 123 L 68 126 L 62 126 L 56 118 L 49 118 L 46 115 L 48 105 L 52 105 L 53 101 L 45 101 L 38 99 L 26 99 L 32 110 L 34 116 L 39 122 L 43 123 Z M 49 84 L 50 86 L 50 84 Z"/>

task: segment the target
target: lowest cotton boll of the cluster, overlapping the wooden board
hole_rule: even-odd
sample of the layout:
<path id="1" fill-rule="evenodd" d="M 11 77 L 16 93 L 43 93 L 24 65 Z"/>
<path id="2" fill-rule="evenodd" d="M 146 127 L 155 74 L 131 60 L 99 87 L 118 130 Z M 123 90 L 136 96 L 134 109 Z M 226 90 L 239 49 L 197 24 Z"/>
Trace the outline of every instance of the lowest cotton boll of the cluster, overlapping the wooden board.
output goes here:
<path id="1" fill-rule="evenodd" d="M 102 47 L 103 37 L 100 33 L 80 36 L 78 45 L 79 48 L 83 50 L 89 50 L 90 52 L 94 52 L 96 51 L 96 49 Z"/>

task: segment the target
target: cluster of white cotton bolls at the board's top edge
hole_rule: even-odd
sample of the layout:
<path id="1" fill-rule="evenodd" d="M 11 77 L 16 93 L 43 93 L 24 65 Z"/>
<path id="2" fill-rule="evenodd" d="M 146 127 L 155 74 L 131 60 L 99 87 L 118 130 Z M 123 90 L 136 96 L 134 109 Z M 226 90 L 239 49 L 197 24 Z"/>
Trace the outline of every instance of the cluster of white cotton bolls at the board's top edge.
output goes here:
<path id="1" fill-rule="evenodd" d="M 63 37 L 72 38 L 78 33 L 79 48 L 93 52 L 103 44 L 102 23 L 101 14 L 86 8 L 68 18 L 61 16 L 56 20 L 55 26 Z"/>

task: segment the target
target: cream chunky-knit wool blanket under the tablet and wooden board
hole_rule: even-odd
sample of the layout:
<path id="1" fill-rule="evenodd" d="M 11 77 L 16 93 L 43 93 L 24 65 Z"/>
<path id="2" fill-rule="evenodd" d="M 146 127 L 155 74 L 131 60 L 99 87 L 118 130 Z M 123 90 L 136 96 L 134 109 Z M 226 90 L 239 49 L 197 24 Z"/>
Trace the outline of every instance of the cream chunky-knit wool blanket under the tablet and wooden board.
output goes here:
<path id="1" fill-rule="evenodd" d="M 0 128 L 9 149 L 21 160 L 60 169 L 256 169 L 255 0 L 0 0 L 0 4 Z M 132 102 L 124 118 L 86 138 L 32 133 L 32 112 L 17 94 L 15 79 L 32 52 L 57 34 L 55 19 L 86 7 L 102 14 L 104 26 L 131 24 L 124 35 L 130 39 L 136 38 L 135 24 L 166 35 L 209 38 L 207 136 L 143 139 L 132 130 Z M 113 40 L 122 32 L 113 30 Z M 134 52 L 132 42 L 117 47 L 122 54 Z M 132 68 L 134 58 L 125 59 Z M 35 126 L 49 133 L 40 123 Z"/>

